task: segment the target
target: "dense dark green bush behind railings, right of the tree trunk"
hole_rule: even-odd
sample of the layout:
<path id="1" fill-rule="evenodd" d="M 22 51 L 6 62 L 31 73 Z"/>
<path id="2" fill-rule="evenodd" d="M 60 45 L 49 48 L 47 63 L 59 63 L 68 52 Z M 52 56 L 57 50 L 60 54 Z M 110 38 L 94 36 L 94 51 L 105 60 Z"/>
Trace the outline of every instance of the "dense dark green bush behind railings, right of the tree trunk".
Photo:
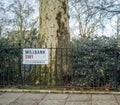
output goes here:
<path id="1" fill-rule="evenodd" d="M 73 40 L 72 48 L 75 84 L 103 87 L 110 83 L 111 88 L 115 86 L 115 78 L 119 77 L 115 74 L 115 67 L 119 68 L 119 49 L 115 38 L 80 38 Z"/>

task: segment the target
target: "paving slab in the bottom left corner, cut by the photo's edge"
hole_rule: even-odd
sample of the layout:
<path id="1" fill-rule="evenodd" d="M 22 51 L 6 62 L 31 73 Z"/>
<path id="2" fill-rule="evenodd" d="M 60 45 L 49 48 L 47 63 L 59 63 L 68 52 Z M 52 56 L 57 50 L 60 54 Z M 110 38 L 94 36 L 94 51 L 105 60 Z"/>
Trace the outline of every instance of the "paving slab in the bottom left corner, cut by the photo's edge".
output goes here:
<path id="1" fill-rule="evenodd" d="M 9 105 L 24 93 L 4 93 L 0 95 L 0 105 Z"/>

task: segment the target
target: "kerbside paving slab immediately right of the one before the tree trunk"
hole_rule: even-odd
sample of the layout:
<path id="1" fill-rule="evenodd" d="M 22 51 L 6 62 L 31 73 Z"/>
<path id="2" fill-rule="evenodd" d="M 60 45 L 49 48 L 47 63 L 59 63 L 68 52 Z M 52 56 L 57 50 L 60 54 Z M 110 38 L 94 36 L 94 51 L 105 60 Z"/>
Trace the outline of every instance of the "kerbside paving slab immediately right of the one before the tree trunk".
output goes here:
<path id="1" fill-rule="evenodd" d="M 70 94 L 68 101 L 89 102 L 92 100 L 91 94 Z"/>

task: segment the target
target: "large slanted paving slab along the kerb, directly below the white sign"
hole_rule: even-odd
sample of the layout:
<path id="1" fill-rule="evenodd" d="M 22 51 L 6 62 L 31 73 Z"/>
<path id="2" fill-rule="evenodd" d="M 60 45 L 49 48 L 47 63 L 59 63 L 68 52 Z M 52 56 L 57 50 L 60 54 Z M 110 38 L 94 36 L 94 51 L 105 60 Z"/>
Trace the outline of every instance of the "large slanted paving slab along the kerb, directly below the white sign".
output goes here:
<path id="1" fill-rule="evenodd" d="M 45 96 L 41 93 L 25 93 L 10 105 L 38 105 Z"/>

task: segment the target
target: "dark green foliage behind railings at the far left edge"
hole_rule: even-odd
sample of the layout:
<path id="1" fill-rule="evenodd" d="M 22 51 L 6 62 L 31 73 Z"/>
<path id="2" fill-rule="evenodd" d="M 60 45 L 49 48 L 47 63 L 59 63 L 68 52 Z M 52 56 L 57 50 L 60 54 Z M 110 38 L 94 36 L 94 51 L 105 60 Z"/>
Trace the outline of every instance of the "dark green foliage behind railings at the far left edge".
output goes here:
<path id="1" fill-rule="evenodd" d="M 17 83 L 18 44 L 0 40 L 0 85 Z"/>

